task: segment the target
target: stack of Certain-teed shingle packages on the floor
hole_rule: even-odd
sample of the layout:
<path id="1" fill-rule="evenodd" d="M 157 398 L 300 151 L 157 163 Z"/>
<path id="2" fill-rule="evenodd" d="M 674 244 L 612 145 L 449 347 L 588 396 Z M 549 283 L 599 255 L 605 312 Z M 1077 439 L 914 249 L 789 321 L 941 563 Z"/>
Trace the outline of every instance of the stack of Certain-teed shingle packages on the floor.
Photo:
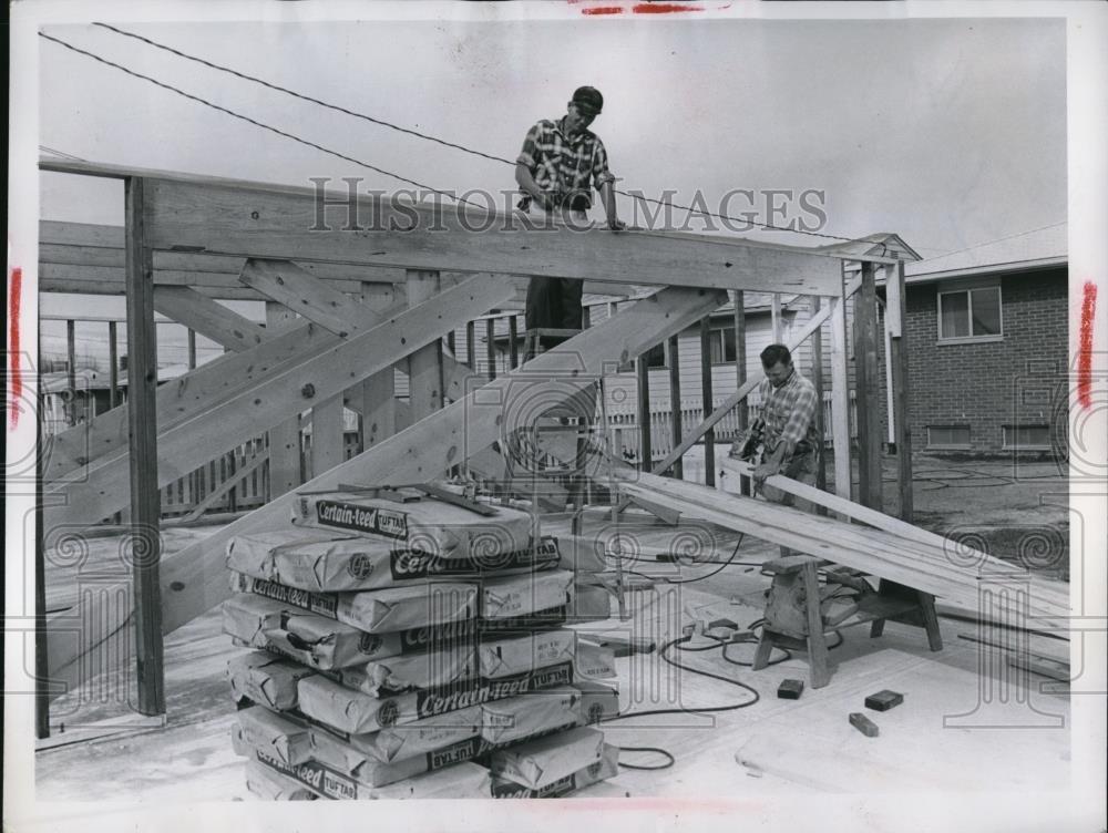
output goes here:
<path id="1" fill-rule="evenodd" d="M 611 654 L 527 513 L 408 492 L 298 496 L 227 547 L 235 751 L 270 800 L 562 796 L 613 777 Z M 483 514 L 482 514 L 483 513 Z M 603 618 L 603 617 L 601 617 Z"/>

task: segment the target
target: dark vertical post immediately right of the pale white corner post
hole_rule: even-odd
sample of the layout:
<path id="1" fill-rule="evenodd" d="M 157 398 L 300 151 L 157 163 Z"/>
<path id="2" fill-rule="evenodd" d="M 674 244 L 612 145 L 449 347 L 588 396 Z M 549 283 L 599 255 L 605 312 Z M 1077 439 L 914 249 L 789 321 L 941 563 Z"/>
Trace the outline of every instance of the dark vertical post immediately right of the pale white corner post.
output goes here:
<path id="1" fill-rule="evenodd" d="M 858 383 L 858 493 L 863 506 L 881 510 L 881 379 L 878 362 L 878 290 L 872 263 L 862 261 L 854 298 L 854 376 Z"/>

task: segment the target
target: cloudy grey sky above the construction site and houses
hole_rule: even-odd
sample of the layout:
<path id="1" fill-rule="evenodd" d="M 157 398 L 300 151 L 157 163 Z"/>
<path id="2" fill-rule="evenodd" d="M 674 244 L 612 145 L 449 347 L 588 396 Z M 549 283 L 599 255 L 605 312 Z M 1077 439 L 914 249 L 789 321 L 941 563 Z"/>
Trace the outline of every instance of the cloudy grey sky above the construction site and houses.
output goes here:
<path id="1" fill-rule="evenodd" d="M 895 232 L 924 257 L 1066 219 L 1065 28 L 1056 20 L 135 23 L 136 33 L 506 158 L 598 88 L 618 187 L 823 192 L 831 235 Z M 510 165 L 294 100 L 92 25 L 44 31 L 435 188 L 514 187 Z M 84 160 L 307 185 L 403 183 L 40 39 L 41 145 Z M 44 155 L 49 155 L 44 152 Z M 122 223 L 117 182 L 42 174 L 41 216 Z M 620 198 L 620 214 L 636 219 Z M 733 213 L 749 209 L 732 203 Z M 765 203 L 755 209 L 767 218 Z M 678 224 L 684 213 L 676 213 Z M 638 215 L 640 218 L 642 215 Z M 780 220 L 780 217 L 778 217 Z M 700 230 L 694 225 L 693 230 Z M 763 232 L 796 245 L 828 239 Z M 117 306 L 117 305 L 116 305 Z M 47 301 L 44 311 L 54 311 Z M 113 302 L 98 302 L 98 309 Z M 122 309 L 122 307 L 119 307 Z"/>

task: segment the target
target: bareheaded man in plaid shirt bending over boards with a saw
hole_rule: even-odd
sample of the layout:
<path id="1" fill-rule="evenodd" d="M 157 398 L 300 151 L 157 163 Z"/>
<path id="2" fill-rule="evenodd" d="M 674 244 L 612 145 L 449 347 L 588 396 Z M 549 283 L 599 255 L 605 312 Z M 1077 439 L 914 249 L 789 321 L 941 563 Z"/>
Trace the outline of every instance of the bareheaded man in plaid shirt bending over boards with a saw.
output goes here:
<path id="1" fill-rule="evenodd" d="M 783 474 L 809 486 L 815 485 L 815 451 L 820 442 L 815 431 L 815 409 L 819 408 L 815 385 L 797 372 L 792 353 L 784 344 L 770 344 L 762 350 L 761 362 L 766 372 L 758 385 L 761 412 L 751 426 L 760 426 L 762 432 L 761 462 L 751 472 L 755 491 L 761 489 L 767 501 L 814 512 L 810 502 L 768 485 L 766 479 Z M 731 453 L 735 452 L 732 448 Z M 790 552 L 781 547 L 781 554 Z"/>

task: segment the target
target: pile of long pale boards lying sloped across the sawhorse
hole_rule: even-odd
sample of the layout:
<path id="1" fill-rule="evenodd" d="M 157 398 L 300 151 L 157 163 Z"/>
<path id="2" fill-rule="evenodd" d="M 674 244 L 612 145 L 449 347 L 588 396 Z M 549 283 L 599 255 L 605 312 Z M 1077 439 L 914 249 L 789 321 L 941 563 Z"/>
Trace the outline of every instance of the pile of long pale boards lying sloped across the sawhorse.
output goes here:
<path id="1" fill-rule="evenodd" d="M 628 479 L 620 484 L 620 489 L 628 494 L 665 500 L 690 517 L 700 517 L 772 544 L 828 558 L 931 593 L 971 610 L 979 608 L 982 580 L 1029 580 L 1026 570 L 997 558 L 984 556 L 975 566 L 968 566 L 947 557 L 945 546 L 912 541 L 884 529 L 864 529 L 835 518 L 809 515 L 788 506 L 728 495 L 653 474 L 638 475 L 636 481 Z M 1032 616 L 1060 624 L 1069 615 L 1068 599 L 1063 603 L 1056 590 L 1043 584 L 1032 584 L 1028 611 Z"/>

